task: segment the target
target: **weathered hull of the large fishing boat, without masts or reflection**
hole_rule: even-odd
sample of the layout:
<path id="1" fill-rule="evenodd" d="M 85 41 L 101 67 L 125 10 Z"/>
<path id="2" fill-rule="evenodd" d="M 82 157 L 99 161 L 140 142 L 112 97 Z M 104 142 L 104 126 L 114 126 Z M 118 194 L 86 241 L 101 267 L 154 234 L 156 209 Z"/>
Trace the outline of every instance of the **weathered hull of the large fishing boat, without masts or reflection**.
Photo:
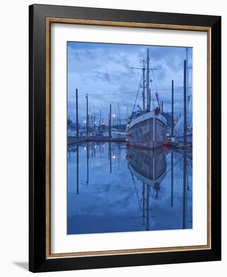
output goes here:
<path id="1" fill-rule="evenodd" d="M 166 119 L 149 112 L 135 118 L 129 125 L 129 144 L 135 147 L 157 149 L 163 146 Z"/>

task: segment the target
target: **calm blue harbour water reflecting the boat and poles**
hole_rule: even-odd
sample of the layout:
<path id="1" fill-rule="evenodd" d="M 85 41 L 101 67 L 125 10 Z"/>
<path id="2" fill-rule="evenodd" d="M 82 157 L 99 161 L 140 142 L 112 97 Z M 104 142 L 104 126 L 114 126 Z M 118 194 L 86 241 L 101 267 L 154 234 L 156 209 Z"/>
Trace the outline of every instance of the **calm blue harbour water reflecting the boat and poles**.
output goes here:
<path id="1" fill-rule="evenodd" d="M 192 154 L 117 143 L 68 150 L 68 234 L 192 228 Z"/>

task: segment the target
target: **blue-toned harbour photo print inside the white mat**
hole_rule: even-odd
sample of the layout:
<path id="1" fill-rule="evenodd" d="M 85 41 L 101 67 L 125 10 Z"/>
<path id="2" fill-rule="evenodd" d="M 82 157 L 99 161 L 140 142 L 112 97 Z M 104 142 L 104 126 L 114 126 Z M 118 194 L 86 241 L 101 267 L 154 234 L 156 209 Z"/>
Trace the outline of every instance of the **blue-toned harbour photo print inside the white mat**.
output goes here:
<path id="1" fill-rule="evenodd" d="M 67 42 L 67 234 L 193 228 L 193 48 Z"/>

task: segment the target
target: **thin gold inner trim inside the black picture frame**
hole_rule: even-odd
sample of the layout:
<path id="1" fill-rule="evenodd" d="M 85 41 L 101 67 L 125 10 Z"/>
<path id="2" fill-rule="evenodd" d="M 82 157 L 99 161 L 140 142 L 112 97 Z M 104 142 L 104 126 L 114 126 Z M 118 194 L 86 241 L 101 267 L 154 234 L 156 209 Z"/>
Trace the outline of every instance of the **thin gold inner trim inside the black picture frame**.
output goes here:
<path id="1" fill-rule="evenodd" d="M 72 252 L 72 253 L 55 253 L 50 252 L 50 25 L 51 23 L 62 24 L 83 24 L 96 26 L 116 26 L 132 28 L 150 28 L 166 30 L 188 30 L 201 31 L 207 33 L 207 244 L 195 246 L 179 247 L 160 247 L 160 248 L 142 248 L 142 249 L 125 249 L 125 250 L 106 250 L 90 252 Z M 183 26 L 183 25 L 166 25 L 151 23 L 133 23 L 118 21 L 99 21 L 83 19 L 64 19 L 64 18 L 46 18 L 46 259 L 60 257 L 81 257 L 81 256 L 100 256 L 115 254 L 133 254 L 133 253 L 154 253 L 170 252 L 184 250 L 204 250 L 211 249 L 211 28 L 200 26 Z"/>

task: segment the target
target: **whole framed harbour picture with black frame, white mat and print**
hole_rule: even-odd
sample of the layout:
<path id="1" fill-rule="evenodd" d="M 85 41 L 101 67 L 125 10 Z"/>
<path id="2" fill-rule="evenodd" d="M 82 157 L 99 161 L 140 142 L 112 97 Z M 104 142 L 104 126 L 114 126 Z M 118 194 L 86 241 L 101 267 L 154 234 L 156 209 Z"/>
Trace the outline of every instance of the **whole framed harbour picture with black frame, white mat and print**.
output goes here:
<path id="1" fill-rule="evenodd" d="M 29 7 L 29 270 L 221 259 L 221 18 Z"/>

